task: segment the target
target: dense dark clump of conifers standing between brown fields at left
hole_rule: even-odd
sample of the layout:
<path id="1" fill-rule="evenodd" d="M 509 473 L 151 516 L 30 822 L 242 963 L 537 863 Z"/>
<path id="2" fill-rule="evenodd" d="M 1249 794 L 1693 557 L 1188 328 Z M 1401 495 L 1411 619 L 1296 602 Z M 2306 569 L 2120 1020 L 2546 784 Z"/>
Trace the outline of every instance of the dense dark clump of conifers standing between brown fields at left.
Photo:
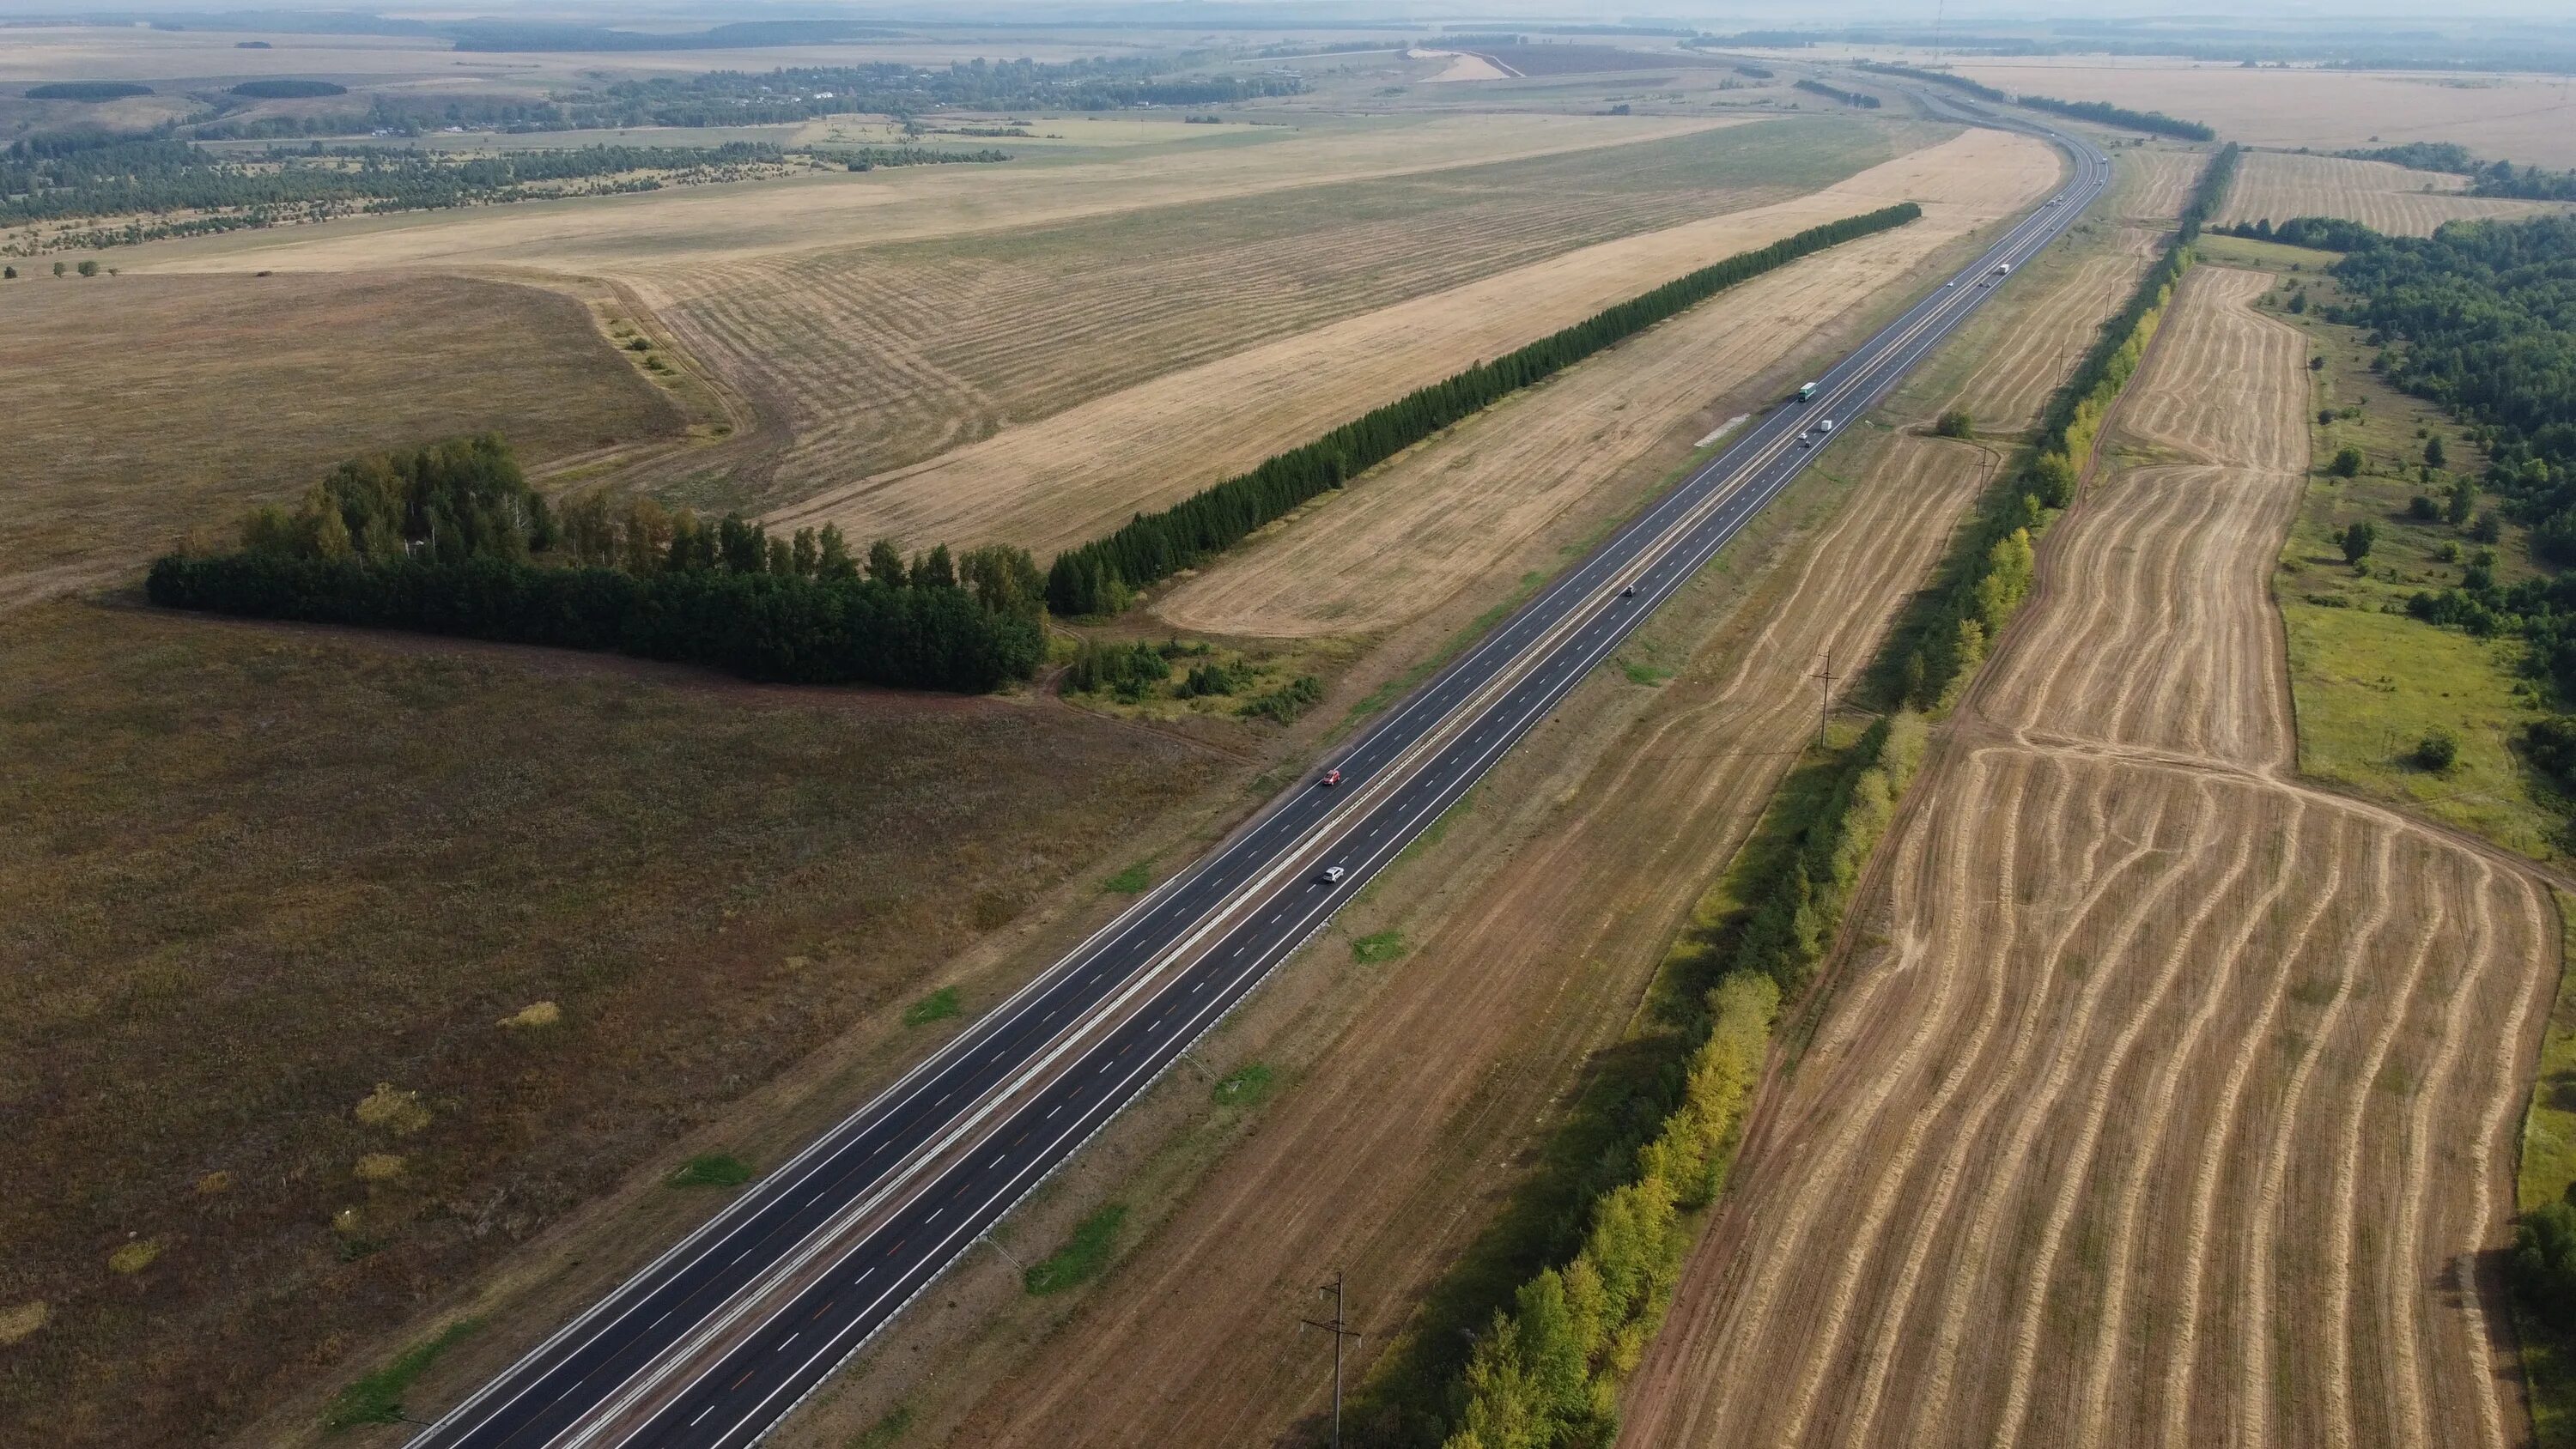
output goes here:
<path id="1" fill-rule="evenodd" d="M 837 528 L 773 538 L 652 499 L 549 507 L 497 435 L 340 463 L 258 507 L 232 553 L 173 553 L 165 607 L 404 628 L 706 664 L 793 685 L 984 692 L 1046 659 L 1020 548 L 855 556 Z"/>

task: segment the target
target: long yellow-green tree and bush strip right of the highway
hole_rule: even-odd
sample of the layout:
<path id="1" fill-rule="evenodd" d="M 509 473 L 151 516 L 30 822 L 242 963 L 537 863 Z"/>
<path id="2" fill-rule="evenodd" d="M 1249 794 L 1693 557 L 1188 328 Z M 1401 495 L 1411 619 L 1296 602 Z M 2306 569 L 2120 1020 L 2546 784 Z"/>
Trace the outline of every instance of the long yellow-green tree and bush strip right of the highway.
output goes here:
<path id="1" fill-rule="evenodd" d="M 2105 327 L 2043 414 L 2030 458 L 1991 492 L 1981 525 L 1953 551 L 1929 618 L 1891 638 L 1873 669 L 1880 690 L 1955 700 L 1984 659 L 1984 638 L 2022 602 L 2030 535 L 2063 504 L 2040 504 L 2025 484 L 2063 474 L 2071 494 L 2071 458 L 2089 453 L 2110 399 L 2136 371 L 2233 165 L 2228 147 L 2202 172 L 2164 260 Z M 1971 638 L 1978 646 L 1960 649 Z M 1510 1289 L 1507 1305 L 1492 1307 L 1492 1323 L 1455 1380 L 1445 1380 L 1445 1392 L 1427 1385 L 1437 1364 L 1455 1364 L 1437 1323 L 1386 1356 L 1388 1369 L 1370 1380 L 1365 1408 L 1401 1426 L 1404 1441 L 1499 1449 L 1618 1436 L 1618 1390 L 1654 1338 L 1690 1246 L 1682 1215 L 1721 1192 L 1777 1006 L 1806 991 L 1832 950 L 1860 870 L 1896 818 L 1927 739 L 1924 715 L 1899 708 L 1847 749 L 1811 757 L 1775 795 L 1736 870 L 1710 891 L 1695 914 L 1698 929 L 1659 973 L 1659 991 L 1685 1001 L 1682 1029 L 1669 1042 L 1687 1045 L 1687 1063 L 1682 1071 L 1636 1063 L 1628 1091 L 1662 1099 L 1662 1120 L 1643 1143 L 1607 1135 L 1595 1153 L 1602 1168 L 1571 1212 L 1579 1223 L 1571 1256 L 1540 1266 Z M 1705 993 L 1692 991 L 1710 975 L 1716 983 Z M 1435 1295 L 1432 1315 L 1443 1310 L 1455 1318 L 1455 1302 Z"/>

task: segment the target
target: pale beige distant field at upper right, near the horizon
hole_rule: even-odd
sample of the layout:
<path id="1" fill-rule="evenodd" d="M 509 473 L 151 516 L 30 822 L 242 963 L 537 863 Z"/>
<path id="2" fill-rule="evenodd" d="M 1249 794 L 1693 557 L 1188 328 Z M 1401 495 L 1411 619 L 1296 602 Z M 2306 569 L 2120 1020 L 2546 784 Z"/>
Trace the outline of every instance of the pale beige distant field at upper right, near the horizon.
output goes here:
<path id="1" fill-rule="evenodd" d="M 2458 142 L 2517 165 L 2576 165 L 2576 90 L 2558 77 L 2244 69 L 2105 57 L 1981 57 L 1958 72 L 2012 93 L 2184 116 L 2249 147 L 2342 152 Z"/>

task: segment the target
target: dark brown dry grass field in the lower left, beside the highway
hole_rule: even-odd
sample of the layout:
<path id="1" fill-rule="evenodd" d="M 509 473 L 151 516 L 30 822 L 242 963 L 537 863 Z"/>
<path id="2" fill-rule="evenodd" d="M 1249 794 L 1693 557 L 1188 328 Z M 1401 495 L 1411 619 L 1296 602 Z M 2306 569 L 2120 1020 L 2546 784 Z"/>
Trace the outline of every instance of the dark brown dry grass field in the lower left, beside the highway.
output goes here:
<path id="1" fill-rule="evenodd" d="M 13 615 L 0 1241 L 54 1320 L 0 1439 L 167 1444 L 345 1380 L 819 1042 L 891 1035 L 1206 759 L 1043 703 Z M 495 1029 L 531 1001 L 562 1022 Z M 129 1233 L 173 1248 L 100 1271 Z"/>

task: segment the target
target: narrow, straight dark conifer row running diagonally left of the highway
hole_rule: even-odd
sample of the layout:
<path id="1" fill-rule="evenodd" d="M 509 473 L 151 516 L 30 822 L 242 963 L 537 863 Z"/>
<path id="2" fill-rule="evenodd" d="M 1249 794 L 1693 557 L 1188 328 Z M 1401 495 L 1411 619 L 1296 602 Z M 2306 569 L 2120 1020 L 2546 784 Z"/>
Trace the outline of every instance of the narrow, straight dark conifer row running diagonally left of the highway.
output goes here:
<path id="1" fill-rule="evenodd" d="M 1118 613 L 1136 589 L 1221 553 L 1255 528 L 1337 489 L 1443 427 L 1538 383 L 1602 347 L 1664 322 L 1718 291 L 1824 247 L 1904 226 L 1922 216 L 1911 201 L 1811 226 L 1795 237 L 1680 275 L 1607 306 L 1492 363 L 1417 389 L 1332 432 L 1262 461 L 1249 474 L 1208 486 L 1162 512 L 1139 512 L 1105 538 L 1066 548 L 1046 571 L 1046 602 L 1059 615 Z"/>

